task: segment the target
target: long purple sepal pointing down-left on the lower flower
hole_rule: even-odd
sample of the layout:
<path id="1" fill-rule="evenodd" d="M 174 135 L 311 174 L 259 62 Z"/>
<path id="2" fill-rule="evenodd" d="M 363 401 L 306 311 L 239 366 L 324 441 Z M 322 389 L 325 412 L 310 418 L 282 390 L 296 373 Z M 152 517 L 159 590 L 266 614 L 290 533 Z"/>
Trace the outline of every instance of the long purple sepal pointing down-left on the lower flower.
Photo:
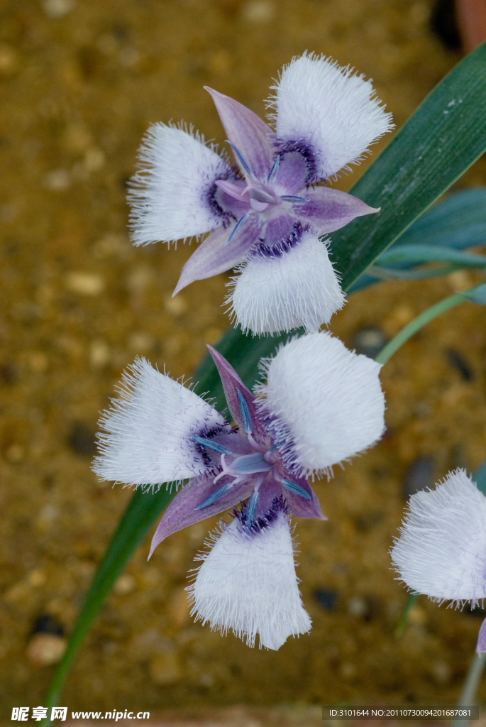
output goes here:
<path id="1" fill-rule="evenodd" d="M 158 528 L 150 544 L 149 558 L 159 543 L 165 540 L 166 537 L 169 537 L 169 535 L 183 528 L 187 528 L 194 523 L 199 523 L 201 520 L 211 518 L 211 515 L 218 515 L 218 513 L 224 513 L 226 510 L 230 510 L 231 507 L 238 505 L 238 502 L 250 497 L 254 489 L 255 479 L 253 477 L 247 477 L 243 482 L 232 486 L 229 491 L 222 495 L 222 497 L 219 497 L 212 505 L 198 510 L 197 508 L 201 505 L 201 502 L 204 502 L 214 491 L 224 485 L 225 481 L 227 483 L 231 482 L 231 478 L 223 477 L 214 484 L 214 477 L 215 475 L 195 477 L 179 490 L 176 497 L 169 503 L 165 513 L 163 513 L 161 522 L 158 523 Z"/>

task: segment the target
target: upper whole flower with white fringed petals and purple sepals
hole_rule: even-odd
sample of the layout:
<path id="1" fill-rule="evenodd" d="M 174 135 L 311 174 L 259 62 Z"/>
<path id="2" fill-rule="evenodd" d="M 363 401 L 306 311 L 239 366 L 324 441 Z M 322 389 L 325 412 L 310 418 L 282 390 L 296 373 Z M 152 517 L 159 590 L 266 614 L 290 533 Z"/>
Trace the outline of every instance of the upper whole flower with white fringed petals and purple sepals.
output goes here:
<path id="1" fill-rule="evenodd" d="M 294 58 L 272 89 L 273 126 L 207 89 L 233 162 L 192 129 L 150 127 L 129 193 L 131 236 L 170 244 L 210 232 L 174 294 L 236 267 L 227 300 L 243 330 L 314 331 L 344 304 L 322 236 L 378 212 L 320 182 L 359 161 L 392 119 L 370 81 L 325 57 Z"/>

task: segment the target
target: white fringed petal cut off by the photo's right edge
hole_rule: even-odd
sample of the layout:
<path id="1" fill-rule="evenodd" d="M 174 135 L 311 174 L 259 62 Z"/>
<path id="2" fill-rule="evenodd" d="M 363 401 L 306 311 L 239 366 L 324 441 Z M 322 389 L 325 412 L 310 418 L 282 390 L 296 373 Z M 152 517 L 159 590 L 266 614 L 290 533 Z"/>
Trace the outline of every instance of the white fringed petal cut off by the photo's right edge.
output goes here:
<path id="1" fill-rule="evenodd" d="M 408 587 L 463 606 L 486 598 L 486 497 L 464 470 L 410 497 L 395 569 Z"/>

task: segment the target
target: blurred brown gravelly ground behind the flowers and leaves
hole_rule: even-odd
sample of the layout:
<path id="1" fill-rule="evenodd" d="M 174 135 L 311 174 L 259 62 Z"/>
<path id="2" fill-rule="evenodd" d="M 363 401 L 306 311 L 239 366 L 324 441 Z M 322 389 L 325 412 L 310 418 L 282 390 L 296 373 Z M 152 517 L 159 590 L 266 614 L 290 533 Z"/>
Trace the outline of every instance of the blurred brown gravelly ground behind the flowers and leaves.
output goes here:
<path id="1" fill-rule="evenodd" d="M 263 115 L 272 78 L 309 49 L 372 78 L 400 128 L 463 56 L 451 13 L 445 4 L 437 15 L 432 0 L 0 1 L 6 719 L 13 706 L 43 704 L 131 497 L 90 469 L 99 411 L 121 371 L 141 355 L 174 377 L 192 374 L 206 343 L 229 324 L 221 307 L 227 277 L 172 299 L 190 249 L 129 242 L 126 181 L 147 126 L 184 120 L 223 145 L 203 85 Z M 339 187 L 348 189 L 365 166 Z M 485 171 L 483 159 L 455 188 L 484 184 Z M 421 310 L 476 279 L 461 272 L 380 284 L 352 297 L 331 329 L 374 355 Z M 164 710 L 454 702 L 483 614 L 423 599 L 396 638 L 406 594 L 388 550 L 408 494 L 486 458 L 485 311 L 467 303 L 434 321 L 386 364 L 383 382 L 384 440 L 316 484 L 327 522 L 297 523 L 310 635 L 274 653 L 193 624 L 185 586 L 216 524 L 206 521 L 174 534 L 150 563 L 149 539 L 137 550 L 61 703 Z M 481 694 L 486 699 L 486 683 Z"/>

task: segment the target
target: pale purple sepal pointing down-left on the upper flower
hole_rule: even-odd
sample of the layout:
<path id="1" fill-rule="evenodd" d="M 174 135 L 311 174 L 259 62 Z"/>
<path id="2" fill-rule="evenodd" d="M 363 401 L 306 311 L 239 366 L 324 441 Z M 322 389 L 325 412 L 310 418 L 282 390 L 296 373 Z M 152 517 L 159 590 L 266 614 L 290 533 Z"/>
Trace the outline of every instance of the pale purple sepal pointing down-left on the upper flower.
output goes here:
<path id="1" fill-rule="evenodd" d="M 195 280 L 224 273 L 246 259 L 249 249 L 259 237 L 261 223 L 256 215 L 250 215 L 227 244 L 233 228 L 216 228 L 201 242 L 182 268 L 173 297 Z"/>

